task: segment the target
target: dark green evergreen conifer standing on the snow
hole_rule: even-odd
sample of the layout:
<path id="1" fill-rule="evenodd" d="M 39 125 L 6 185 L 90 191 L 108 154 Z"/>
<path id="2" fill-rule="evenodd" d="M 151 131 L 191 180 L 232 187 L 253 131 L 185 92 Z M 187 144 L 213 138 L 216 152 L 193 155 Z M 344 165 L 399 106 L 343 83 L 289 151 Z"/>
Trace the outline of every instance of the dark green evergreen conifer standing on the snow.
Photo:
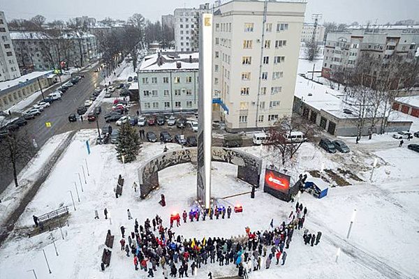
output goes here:
<path id="1" fill-rule="evenodd" d="M 122 162 L 124 155 L 125 163 L 132 162 L 137 158 L 140 150 L 140 139 L 135 129 L 129 123 L 122 124 L 119 129 L 117 158 Z"/>

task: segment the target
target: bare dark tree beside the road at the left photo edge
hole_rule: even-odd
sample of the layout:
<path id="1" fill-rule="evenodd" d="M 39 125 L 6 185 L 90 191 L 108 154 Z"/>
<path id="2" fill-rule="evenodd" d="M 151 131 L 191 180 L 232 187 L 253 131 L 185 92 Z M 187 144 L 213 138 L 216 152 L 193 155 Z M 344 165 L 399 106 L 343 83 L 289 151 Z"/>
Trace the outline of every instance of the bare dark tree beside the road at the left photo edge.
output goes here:
<path id="1" fill-rule="evenodd" d="M 15 186 L 19 186 L 17 181 L 17 165 L 26 163 L 34 156 L 35 149 L 32 146 L 27 133 L 15 133 L 9 131 L 6 137 L 0 142 L 0 162 L 2 169 L 13 170 Z"/>

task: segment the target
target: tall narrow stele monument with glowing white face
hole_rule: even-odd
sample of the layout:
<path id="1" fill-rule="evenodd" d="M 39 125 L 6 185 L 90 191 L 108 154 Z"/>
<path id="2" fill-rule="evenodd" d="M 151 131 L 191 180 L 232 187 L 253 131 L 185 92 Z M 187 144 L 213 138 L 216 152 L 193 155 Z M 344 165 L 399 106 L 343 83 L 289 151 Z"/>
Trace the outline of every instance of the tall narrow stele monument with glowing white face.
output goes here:
<path id="1" fill-rule="evenodd" d="M 196 194 L 210 208 L 212 156 L 212 14 L 200 17 L 198 92 L 198 167 Z"/>

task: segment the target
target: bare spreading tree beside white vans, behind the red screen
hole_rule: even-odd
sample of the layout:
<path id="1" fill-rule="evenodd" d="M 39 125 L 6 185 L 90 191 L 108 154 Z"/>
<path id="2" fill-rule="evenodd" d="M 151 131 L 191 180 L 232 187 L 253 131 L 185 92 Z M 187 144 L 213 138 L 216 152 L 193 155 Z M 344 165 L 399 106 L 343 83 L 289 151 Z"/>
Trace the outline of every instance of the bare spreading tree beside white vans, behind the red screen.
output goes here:
<path id="1" fill-rule="evenodd" d="M 284 166 L 286 160 L 292 159 L 304 142 L 303 139 L 297 139 L 291 135 L 301 132 L 305 140 L 312 140 L 317 129 L 315 123 L 300 116 L 284 116 L 268 130 L 265 144 L 269 151 L 279 156 Z"/>

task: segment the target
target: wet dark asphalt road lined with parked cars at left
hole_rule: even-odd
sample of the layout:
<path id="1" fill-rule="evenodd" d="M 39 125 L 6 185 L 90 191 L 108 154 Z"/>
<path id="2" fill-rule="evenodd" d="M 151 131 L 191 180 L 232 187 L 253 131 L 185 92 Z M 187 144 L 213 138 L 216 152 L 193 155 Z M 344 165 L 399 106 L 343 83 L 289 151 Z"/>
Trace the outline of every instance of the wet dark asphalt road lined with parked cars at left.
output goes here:
<path id="1" fill-rule="evenodd" d="M 56 100 L 50 107 L 45 108 L 40 116 L 28 121 L 27 125 L 22 127 L 17 133 L 27 133 L 31 139 L 35 139 L 39 148 L 47 142 L 53 135 L 64 133 L 68 130 L 79 130 L 82 128 L 92 128 L 93 123 L 84 122 L 68 122 L 68 114 L 75 113 L 77 108 L 84 104 L 98 84 L 103 80 L 101 73 L 95 73 L 94 70 L 83 71 L 84 79 L 78 84 L 72 86 L 64 93 L 61 100 Z M 44 92 L 44 96 L 57 89 L 59 85 L 54 86 Z M 46 122 L 51 123 L 51 127 L 45 125 Z M 104 121 L 103 121 L 104 122 Z M 29 162 L 20 163 L 17 171 Z M 11 171 L 2 170 L 2 179 L 0 181 L 0 193 L 13 181 Z"/>

